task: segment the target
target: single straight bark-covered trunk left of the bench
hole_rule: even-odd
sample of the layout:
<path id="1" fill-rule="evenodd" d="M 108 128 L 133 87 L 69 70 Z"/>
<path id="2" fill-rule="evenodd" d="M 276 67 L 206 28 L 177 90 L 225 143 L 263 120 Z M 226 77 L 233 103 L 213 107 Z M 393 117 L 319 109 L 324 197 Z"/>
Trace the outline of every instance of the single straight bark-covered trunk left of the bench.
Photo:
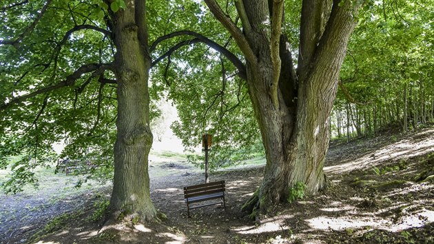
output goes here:
<path id="1" fill-rule="evenodd" d="M 144 1 L 125 1 L 127 8 L 112 13 L 116 45 L 118 117 L 114 145 L 114 181 L 110 210 L 114 217 L 139 216 L 149 220 L 156 209 L 149 194 L 149 129 L 147 51 Z"/>

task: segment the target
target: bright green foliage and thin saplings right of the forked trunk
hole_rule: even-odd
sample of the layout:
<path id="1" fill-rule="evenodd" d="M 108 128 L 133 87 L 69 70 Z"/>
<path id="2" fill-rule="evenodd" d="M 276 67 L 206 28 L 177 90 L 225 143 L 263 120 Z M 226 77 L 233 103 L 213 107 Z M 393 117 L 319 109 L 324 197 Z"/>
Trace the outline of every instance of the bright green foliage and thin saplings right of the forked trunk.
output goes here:
<path id="1" fill-rule="evenodd" d="M 334 135 L 406 131 L 433 121 L 433 4 L 368 1 L 340 72 Z"/>

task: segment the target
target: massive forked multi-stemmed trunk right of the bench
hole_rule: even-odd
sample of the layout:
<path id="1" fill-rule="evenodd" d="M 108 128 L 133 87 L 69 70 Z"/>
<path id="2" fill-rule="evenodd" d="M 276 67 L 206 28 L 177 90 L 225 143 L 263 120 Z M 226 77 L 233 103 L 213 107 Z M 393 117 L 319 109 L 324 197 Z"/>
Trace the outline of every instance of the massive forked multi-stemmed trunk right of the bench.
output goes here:
<path id="1" fill-rule="evenodd" d="M 243 209 L 267 213 L 287 201 L 295 185 L 315 194 L 326 184 L 329 115 L 359 2 L 302 1 L 297 65 L 282 30 L 285 1 L 236 1 L 242 32 L 216 1 L 205 2 L 245 54 L 249 96 L 265 147 L 264 179 Z"/>

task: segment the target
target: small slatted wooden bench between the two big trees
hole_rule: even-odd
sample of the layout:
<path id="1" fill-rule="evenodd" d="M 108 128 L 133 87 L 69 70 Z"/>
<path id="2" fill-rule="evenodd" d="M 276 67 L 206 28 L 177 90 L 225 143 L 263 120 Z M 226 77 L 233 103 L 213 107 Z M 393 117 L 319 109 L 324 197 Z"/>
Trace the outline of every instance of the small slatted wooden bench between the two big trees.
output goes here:
<path id="1" fill-rule="evenodd" d="M 213 199 L 221 199 L 218 202 L 206 203 L 203 205 L 190 206 L 192 203 L 199 203 Z M 221 204 L 226 210 L 225 203 L 225 181 L 216 181 L 200 185 L 191 185 L 184 187 L 184 201 L 187 203 L 187 215 L 190 216 L 190 210 L 197 207 Z"/>

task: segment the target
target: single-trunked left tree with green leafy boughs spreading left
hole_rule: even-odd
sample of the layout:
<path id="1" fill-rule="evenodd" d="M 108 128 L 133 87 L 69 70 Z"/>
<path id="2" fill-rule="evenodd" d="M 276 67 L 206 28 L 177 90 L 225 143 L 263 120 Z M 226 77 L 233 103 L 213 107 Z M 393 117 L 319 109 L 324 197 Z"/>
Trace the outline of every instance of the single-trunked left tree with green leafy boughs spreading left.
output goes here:
<path id="1" fill-rule="evenodd" d="M 15 192 L 14 185 L 35 183 L 32 169 L 63 139 L 65 156 L 114 151 L 113 216 L 154 218 L 145 1 L 1 4 L 1 166 L 26 155 L 3 187 Z M 105 161 L 100 166 L 111 167 Z"/>

